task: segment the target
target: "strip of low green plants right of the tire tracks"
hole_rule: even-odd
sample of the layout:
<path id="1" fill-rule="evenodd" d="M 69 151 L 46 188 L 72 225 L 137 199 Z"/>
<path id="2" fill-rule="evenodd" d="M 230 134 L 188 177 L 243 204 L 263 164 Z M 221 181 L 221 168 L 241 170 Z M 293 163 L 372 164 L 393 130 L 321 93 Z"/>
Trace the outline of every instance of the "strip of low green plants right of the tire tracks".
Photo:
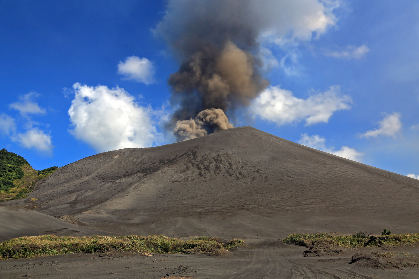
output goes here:
<path id="1" fill-rule="evenodd" d="M 385 239 L 368 237 L 365 233 L 354 233 L 352 235 L 331 235 L 328 233 L 303 233 L 291 234 L 284 238 L 283 243 L 294 243 L 299 246 L 346 246 L 346 247 L 372 247 L 387 245 L 402 245 L 406 243 L 419 242 L 419 233 L 402 233 L 389 235 Z"/>

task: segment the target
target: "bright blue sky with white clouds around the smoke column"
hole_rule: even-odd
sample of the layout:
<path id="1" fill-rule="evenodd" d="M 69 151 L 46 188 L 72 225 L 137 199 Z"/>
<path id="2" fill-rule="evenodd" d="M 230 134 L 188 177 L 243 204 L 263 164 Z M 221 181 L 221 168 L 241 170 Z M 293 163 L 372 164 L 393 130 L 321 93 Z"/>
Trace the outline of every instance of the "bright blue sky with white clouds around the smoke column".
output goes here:
<path id="1" fill-rule="evenodd" d="M 1 146 L 44 169 L 175 142 L 164 127 L 180 58 L 153 30 L 188 1 L 0 1 Z M 254 53 L 271 87 L 228 110 L 230 122 L 419 174 L 419 2 L 279 2 L 286 23 L 275 9 L 257 12 L 275 19 L 273 33 L 257 29 Z M 328 22 L 301 25 L 309 5 Z"/>

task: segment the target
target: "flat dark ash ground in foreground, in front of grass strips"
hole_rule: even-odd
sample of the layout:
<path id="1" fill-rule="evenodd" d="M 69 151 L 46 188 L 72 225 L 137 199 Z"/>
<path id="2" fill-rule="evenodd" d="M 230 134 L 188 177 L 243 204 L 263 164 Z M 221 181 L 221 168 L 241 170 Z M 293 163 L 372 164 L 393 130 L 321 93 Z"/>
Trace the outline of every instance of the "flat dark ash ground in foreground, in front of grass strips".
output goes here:
<path id="1" fill-rule="evenodd" d="M 419 267 L 416 266 L 375 268 L 363 261 L 349 264 L 354 254 L 365 252 L 363 249 L 320 258 L 303 257 L 305 249 L 277 240 L 248 239 L 248 247 L 232 251 L 224 257 L 159 254 L 147 257 L 128 253 L 99 257 L 97 254 L 74 253 L 42 259 L 0 261 L 0 278 L 18 279 L 28 272 L 30 278 L 54 279 L 161 279 L 171 276 L 200 279 L 419 278 Z M 418 253 L 419 249 L 415 251 Z"/>

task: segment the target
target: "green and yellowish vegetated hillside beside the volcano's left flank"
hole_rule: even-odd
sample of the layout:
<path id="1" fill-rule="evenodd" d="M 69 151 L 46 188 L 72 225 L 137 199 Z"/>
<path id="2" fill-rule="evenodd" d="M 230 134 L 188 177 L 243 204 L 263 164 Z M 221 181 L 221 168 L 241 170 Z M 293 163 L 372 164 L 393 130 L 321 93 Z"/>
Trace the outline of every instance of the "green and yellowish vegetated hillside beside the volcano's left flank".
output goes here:
<path id="1" fill-rule="evenodd" d="M 52 166 L 41 171 L 34 170 L 22 156 L 0 150 L 0 202 L 28 197 L 36 181 L 44 179 L 58 169 Z"/>

